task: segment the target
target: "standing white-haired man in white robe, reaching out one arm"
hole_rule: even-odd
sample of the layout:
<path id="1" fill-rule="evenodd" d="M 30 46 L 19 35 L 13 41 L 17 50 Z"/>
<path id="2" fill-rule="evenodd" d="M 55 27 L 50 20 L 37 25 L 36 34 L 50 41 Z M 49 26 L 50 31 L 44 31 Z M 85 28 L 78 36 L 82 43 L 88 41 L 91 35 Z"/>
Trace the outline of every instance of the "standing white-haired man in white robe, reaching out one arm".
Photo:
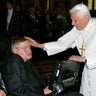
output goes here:
<path id="1" fill-rule="evenodd" d="M 69 60 L 84 62 L 80 93 L 96 96 L 96 18 L 92 18 L 88 7 L 81 3 L 70 10 L 73 28 L 57 41 L 38 43 L 28 39 L 32 46 L 42 48 L 48 55 L 54 55 L 68 48 L 77 47 L 80 56 L 72 55 Z"/>

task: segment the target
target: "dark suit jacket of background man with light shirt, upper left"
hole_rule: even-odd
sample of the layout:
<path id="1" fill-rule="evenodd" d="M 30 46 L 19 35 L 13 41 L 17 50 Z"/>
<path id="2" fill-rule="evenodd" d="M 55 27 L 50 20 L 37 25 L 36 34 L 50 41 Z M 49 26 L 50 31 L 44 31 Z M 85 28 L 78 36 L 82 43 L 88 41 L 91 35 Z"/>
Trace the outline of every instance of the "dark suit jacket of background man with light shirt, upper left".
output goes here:
<path id="1" fill-rule="evenodd" d="M 2 21 L 1 32 L 4 34 L 4 36 L 13 37 L 13 36 L 19 35 L 19 33 L 20 33 L 20 14 L 17 11 L 13 10 L 13 14 L 12 14 L 7 32 L 6 32 L 7 10 L 4 10 L 2 12 L 1 21 Z"/>

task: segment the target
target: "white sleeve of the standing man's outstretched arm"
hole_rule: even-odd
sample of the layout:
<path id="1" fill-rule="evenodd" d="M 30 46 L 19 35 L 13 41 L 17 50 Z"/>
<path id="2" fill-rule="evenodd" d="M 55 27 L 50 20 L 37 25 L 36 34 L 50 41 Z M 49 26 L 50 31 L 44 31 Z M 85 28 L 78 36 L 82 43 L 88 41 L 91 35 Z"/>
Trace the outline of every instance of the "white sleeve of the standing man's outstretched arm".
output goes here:
<path id="1" fill-rule="evenodd" d="M 59 52 L 65 51 L 70 48 L 78 36 L 76 27 L 73 27 L 64 36 L 60 37 L 57 41 L 45 43 L 45 49 L 48 55 L 54 55 Z"/>

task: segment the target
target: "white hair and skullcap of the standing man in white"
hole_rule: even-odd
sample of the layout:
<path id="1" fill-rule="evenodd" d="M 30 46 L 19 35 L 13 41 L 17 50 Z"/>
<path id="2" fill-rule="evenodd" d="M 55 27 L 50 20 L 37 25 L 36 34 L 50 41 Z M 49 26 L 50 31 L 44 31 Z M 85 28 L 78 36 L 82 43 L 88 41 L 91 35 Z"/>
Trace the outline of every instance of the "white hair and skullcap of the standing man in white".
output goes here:
<path id="1" fill-rule="evenodd" d="M 88 7 L 83 3 L 75 5 L 69 12 L 70 13 L 76 12 L 77 15 L 81 17 L 84 16 L 89 16 L 89 18 L 91 17 Z"/>

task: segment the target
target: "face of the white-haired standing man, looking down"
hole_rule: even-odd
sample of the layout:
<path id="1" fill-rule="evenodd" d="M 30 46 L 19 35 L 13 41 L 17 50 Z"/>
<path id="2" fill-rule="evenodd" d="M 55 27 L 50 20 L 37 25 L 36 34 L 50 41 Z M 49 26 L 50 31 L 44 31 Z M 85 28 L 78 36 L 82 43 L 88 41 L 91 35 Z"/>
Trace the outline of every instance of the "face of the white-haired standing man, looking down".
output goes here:
<path id="1" fill-rule="evenodd" d="M 72 13 L 71 14 L 72 25 L 76 26 L 78 30 L 82 30 L 87 25 L 86 18 L 87 18 L 86 16 L 80 17 L 76 13 Z"/>

